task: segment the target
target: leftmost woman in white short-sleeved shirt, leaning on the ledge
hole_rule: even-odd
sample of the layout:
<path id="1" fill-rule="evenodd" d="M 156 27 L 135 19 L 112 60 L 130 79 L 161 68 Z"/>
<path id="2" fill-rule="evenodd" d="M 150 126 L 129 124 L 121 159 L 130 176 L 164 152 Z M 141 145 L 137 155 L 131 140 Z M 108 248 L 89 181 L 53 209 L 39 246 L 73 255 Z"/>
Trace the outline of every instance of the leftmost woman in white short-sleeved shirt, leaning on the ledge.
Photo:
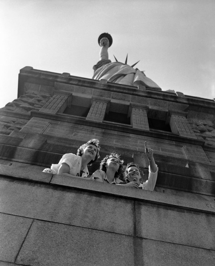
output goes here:
<path id="1" fill-rule="evenodd" d="M 99 140 L 91 139 L 78 148 L 77 155 L 66 153 L 58 164 L 52 164 L 51 168 L 46 168 L 43 172 L 64 176 L 87 177 L 89 174 L 87 165 L 92 165 L 98 160 L 100 157 L 99 150 Z"/>

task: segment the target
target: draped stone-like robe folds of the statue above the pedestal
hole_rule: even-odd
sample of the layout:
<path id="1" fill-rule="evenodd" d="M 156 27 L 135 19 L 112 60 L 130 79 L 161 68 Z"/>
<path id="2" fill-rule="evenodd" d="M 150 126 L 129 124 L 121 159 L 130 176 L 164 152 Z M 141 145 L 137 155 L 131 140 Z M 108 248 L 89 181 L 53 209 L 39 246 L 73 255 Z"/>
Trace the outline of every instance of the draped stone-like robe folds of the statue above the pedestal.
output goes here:
<path id="1" fill-rule="evenodd" d="M 160 89 L 160 87 L 150 78 L 146 77 L 143 72 L 134 69 L 127 64 L 121 62 L 113 62 L 110 60 L 101 60 L 95 66 L 93 79 L 105 79 L 109 82 L 125 84 L 137 87 L 143 85 L 147 88 Z"/>

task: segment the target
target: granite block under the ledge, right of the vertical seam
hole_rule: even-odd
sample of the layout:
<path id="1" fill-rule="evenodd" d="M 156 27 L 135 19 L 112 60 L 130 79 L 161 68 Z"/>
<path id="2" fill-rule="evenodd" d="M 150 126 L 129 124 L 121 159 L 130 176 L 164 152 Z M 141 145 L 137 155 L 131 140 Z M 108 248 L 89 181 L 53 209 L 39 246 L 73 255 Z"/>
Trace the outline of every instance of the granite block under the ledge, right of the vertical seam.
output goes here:
<path id="1" fill-rule="evenodd" d="M 213 215 L 138 202 L 135 220 L 136 236 L 215 250 Z"/>

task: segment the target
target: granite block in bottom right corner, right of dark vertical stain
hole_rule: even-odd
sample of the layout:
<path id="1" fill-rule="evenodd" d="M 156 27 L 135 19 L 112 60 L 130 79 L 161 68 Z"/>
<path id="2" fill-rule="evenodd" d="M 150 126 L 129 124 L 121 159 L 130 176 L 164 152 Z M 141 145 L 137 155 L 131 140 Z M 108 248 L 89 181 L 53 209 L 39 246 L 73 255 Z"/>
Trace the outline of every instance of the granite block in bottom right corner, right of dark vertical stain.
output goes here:
<path id="1" fill-rule="evenodd" d="M 183 246 L 172 243 L 143 239 L 139 244 L 142 258 L 139 257 L 135 265 L 144 266 L 213 266 L 215 252 L 199 249 L 192 246 Z M 141 255 L 139 255 L 141 256 Z"/>

